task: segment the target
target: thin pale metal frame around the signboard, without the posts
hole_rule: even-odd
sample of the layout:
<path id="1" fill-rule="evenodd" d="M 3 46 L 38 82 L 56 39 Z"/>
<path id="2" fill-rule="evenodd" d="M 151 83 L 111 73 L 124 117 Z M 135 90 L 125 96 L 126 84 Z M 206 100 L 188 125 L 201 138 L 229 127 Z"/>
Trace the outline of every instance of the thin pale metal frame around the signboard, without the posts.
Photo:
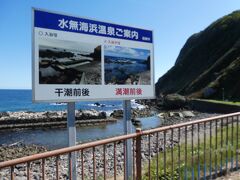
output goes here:
<path id="1" fill-rule="evenodd" d="M 37 93 L 36 93 L 36 90 L 37 88 L 39 87 L 40 83 L 39 81 L 36 82 L 36 73 L 38 73 L 38 69 L 36 69 L 36 63 L 38 63 L 39 60 L 36 60 L 36 35 L 35 35 L 35 17 L 34 17 L 34 13 L 35 11 L 43 11 L 43 12 L 47 12 L 47 13 L 54 13 L 54 14 L 60 14 L 60 15 L 63 15 L 63 16 L 70 16 L 70 17 L 76 17 L 76 18 L 82 18 L 82 19 L 87 19 L 87 20 L 92 20 L 92 21 L 98 21 L 98 22 L 103 22 L 103 23 L 110 23 L 110 24 L 114 24 L 114 25 L 119 25 L 119 24 L 116 24 L 116 23 L 111 23 L 111 22 L 106 22 L 106 21 L 99 21 L 99 20 L 95 20 L 95 19 L 91 19 L 91 18 L 84 18 L 84 17 L 80 17 L 80 16 L 73 16 L 73 15 L 69 15 L 67 13 L 59 13 L 59 12 L 55 12 L 55 11 L 48 11 L 48 10 L 43 10 L 43 9 L 38 9 L 38 8 L 32 8 L 32 100 L 33 102 L 76 102 L 76 101 L 96 101 L 96 100 L 131 100 L 131 99 L 153 99 L 155 98 L 155 78 L 154 78 L 154 33 L 153 33 L 153 30 L 148 30 L 148 29 L 142 29 L 142 28 L 138 28 L 138 27 L 133 27 L 133 26 L 127 26 L 127 25 L 120 25 L 120 26 L 124 26 L 124 27 L 131 27 L 131 28 L 136 28 L 136 29 L 140 29 L 140 30 L 146 30 L 146 31 L 151 31 L 152 32 L 152 39 L 151 39 L 151 43 L 152 44 L 152 48 L 149 49 L 150 53 L 151 53 L 151 57 L 150 57 L 150 81 L 151 83 L 149 85 L 124 85 L 124 84 L 118 84 L 118 85 L 107 85 L 107 84 L 102 84 L 101 85 L 94 85 L 95 88 L 98 88 L 98 87 L 101 87 L 102 88 L 102 91 L 104 90 L 104 88 L 129 88 L 129 87 L 132 87 L 132 88 L 141 88 L 141 87 L 151 87 L 151 95 L 149 94 L 144 94 L 144 95 L 140 95 L 140 96 L 133 96 L 131 97 L 130 95 L 129 96 L 119 96 L 119 97 L 106 97 L 106 96 L 99 96 L 98 98 L 96 97 L 76 97 L 76 98 L 52 98 L 52 99 L 39 99 L 38 97 L 36 97 Z M 80 33 L 79 33 L 80 34 Z M 95 35 L 93 35 L 95 36 Z M 107 38 L 107 39 L 111 39 L 111 37 L 103 37 L 103 38 Z M 114 38 L 112 37 L 112 39 L 117 39 L 117 38 Z M 125 39 L 126 40 L 126 39 Z M 125 41 L 125 40 L 121 40 L 120 41 Z M 132 40 L 129 39 L 129 40 L 126 40 L 126 41 L 129 41 L 131 42 Z M 144 43 L 144 42 L 140 42 L 140 43 Z M 147 43 L 147 42 L 146 42 Z M 101 46 L 103 46 L 104 44 L 101 44 Z M 130 48 L 135 48 L 135 47 L 130 47 Z M 103 52 L 103 50 L 102 50 Z M 103 55 L 102 55 L 103 56 Z M 103 57 L 101 57 L 102 61 L 104 60 Z M 36 62 L 37 61 L 37 62 Z M 103 62 L 102 63 L 102 67 L 104 66 L 103 65 Z M 103 71 L 103 69 L 101 70 Z M 104 73 L 102 72 L 101 75 L 104 75 Z M 102 77 L 104 78 L 104 77 Z M 36 87 L 37 86 L 37 87 Z M 56 84 L 47 84 L 47 85 L 40 85 L 41 87 L 42 86 L 48 86 L 48 87 L 52 87 L 52 86 L 56 86 Z M 70 87 L 69 84 L 57 84 L 58 87 Z M 84 84 L 77 84 L 78 87 L 89 87 L 89 86 L 92 86 L 92 85 L 84 85 Z M 39 93 L 39 92 L 38 92 Z M 43 93 L 46 93 L 43 92 Z M 101 94 L 101 93 L 100 93 Z M 111 95 L 113 96 L 113 95 Z"/>

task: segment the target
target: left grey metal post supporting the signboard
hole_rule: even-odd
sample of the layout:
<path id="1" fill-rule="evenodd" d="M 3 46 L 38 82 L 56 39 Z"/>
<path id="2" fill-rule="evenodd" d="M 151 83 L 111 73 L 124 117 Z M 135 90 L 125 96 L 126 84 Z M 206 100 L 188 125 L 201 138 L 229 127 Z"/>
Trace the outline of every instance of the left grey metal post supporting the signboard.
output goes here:
<path id="1" fill-rule="evenodd" d="M 67 104 L 68 146 L 76 145 L 75 102 Z M 71 167 L 71 168 L 70 168 Z M 71 177 L 72 176 L 72 177 Z M 69 154 L 69 179 L 77 179 L 76 153 Z"/>

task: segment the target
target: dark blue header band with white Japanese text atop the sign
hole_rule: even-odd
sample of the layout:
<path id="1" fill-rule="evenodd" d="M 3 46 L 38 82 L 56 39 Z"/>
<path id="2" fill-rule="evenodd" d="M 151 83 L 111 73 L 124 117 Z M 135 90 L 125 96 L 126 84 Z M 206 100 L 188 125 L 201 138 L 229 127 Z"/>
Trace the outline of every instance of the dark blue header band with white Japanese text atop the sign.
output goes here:
<path id="1" fill-rule="evenodd" d="M 34 26 L 152 43 L 152 31 L 36 10 Z"/>

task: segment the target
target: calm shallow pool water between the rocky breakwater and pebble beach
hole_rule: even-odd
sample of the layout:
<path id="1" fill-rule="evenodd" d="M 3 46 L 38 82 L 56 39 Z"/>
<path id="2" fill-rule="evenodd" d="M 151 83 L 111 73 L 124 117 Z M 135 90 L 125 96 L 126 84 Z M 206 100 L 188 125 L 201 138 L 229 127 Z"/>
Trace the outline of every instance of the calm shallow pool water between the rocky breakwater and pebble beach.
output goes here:
<path id="1" fill-rule="evenodd" d="M 139 118 L 142 129 L 151 129 L 161 125 L 161 120 L 156 117 Z M 132 132 L 136 128 L 132 126 Z M 116 123 L 103 124 L 99 126 L 77 127 L 77 143 L 95 141 L 99 139 L 119 136 L 124 134 L 124 121 L 118 120 Z M 0 146 L 15 142 L 24 144 L 36 144 L 45 146 L 51 150 L 68 146 L 67 128 L 51 129 L 22 129 L 17 131 L 0 131 Z"/>

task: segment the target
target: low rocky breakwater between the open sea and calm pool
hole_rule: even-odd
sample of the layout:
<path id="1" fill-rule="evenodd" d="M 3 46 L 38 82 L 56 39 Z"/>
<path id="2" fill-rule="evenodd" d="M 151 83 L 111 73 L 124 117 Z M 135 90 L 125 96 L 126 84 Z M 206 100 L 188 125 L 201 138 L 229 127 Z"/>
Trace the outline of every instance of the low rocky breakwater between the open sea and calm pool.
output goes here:
<path id="1" fill-rule="evenodd" d="M 106 112 L 96 110 L 76 110 L 78 126 L 98 125 L 116 122 L 115 118 L 107 117 Z M 56 128 L 66 127 L 66 111 L 47 112 L 1 112 L 0 130 L 15 128 Z"/>

